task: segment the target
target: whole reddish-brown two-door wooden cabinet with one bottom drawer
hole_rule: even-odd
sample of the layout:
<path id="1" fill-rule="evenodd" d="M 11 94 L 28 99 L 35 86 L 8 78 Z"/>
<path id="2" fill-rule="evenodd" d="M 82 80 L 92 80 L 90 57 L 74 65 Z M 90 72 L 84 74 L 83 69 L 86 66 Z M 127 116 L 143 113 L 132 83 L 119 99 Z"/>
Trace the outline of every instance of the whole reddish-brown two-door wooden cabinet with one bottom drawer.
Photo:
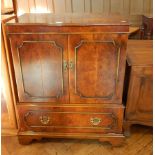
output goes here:
<path id="1" fill-rule="evenodd" d="M 128 30 L 123 18 L 99 14 L 24 14 L 6 24 L 20 143 L 122 143 Z"/>

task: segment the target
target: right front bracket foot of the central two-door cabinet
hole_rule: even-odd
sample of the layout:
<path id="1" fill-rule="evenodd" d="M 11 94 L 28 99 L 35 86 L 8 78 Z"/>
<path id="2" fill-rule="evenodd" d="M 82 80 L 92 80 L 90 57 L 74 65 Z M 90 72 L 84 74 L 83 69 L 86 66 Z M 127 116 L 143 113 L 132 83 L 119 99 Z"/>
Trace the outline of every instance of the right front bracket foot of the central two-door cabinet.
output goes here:
<path id="1" fill-rule="evenodd" d="M 100 142 L 109 142 L 113 147 L 119 147 L 124 143 L 124 137 L 108 137 L 99 139 Z"/>

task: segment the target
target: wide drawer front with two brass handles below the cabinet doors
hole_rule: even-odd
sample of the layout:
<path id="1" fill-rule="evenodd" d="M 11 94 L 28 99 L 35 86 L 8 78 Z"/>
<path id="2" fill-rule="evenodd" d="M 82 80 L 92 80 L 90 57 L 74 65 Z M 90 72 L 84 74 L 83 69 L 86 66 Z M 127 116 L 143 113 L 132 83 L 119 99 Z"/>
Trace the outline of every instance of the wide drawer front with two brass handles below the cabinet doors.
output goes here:
<path id="1" fill-rule="evenodd" d="M 122 131 L 123 108 L 20 107 L 20 131 L 101 132 Z"/>

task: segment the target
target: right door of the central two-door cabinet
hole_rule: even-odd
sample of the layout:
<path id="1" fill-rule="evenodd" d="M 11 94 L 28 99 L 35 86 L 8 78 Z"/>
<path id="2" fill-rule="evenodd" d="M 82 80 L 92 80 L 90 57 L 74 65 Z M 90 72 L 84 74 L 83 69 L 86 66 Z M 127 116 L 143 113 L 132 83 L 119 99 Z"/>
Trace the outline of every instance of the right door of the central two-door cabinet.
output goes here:
<path id="1" fill-rule="evenodd" d="M 121 103 L 126 35 L 69 36 L 71 103 Z"/>

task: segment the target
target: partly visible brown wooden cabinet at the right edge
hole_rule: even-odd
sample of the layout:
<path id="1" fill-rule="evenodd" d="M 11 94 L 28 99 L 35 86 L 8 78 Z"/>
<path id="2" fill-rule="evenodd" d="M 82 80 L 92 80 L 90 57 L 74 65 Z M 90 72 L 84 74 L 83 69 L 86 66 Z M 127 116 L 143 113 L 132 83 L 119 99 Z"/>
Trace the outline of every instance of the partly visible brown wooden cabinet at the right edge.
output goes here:
<path id="1" fill-rule="evenodd" d="M 127 59 L 131 68 L 125 110 L 124 130 L 132 124 L 152 126 L 153 121 L 153 49 L 152 41 L 129 41 Z M 136 46 L 136 48 L 135 48 Z M 143 49 L 143 50 L 141 50 Z"/>

